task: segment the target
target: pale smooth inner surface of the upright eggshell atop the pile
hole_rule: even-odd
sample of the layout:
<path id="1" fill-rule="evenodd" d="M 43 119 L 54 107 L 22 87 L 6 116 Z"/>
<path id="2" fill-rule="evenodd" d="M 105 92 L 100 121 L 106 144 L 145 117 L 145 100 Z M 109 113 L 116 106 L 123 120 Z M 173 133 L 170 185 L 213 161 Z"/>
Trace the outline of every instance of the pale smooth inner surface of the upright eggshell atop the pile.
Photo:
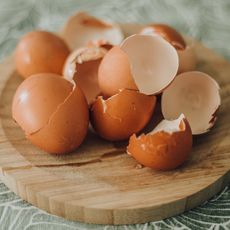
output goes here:
<path id="1" fill-rule="evenodd" d="M 175 78 L 177 51 L 160 36 L 132 35 L 123 41 L 121 49 L 128 56 L 132 77 L 141 93 L 159 94 Z"/>

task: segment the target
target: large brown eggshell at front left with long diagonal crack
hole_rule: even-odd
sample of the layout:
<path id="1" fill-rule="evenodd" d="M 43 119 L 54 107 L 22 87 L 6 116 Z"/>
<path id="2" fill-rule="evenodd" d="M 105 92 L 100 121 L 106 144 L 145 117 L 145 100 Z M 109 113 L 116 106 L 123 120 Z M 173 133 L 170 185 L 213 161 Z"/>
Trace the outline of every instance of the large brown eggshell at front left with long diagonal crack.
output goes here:
<path id="1" fill-rule="evenodd" d="M 36 74 L 23 81 L 13 99 L 12 115 L 26 137 L 49 153 L 76 149 L 89 124 L 81 89 L 55 74 Z"/>

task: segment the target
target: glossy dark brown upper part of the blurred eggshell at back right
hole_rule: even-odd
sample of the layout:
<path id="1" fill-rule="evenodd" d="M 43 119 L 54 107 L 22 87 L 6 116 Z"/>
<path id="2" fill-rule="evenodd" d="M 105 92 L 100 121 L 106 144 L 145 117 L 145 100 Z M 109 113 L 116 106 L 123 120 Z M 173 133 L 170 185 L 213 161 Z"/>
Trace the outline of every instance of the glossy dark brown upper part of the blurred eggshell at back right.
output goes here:
<path id="1" fill-rule="evenodd" d="M 171 43 L 177 50 L 184 50 L 186 43 L 180 33 L 174 28 L 165 24 L 152 24 L 141 30 L 140 34 L 156 34 L 160 35 L 166 41 Z"/>

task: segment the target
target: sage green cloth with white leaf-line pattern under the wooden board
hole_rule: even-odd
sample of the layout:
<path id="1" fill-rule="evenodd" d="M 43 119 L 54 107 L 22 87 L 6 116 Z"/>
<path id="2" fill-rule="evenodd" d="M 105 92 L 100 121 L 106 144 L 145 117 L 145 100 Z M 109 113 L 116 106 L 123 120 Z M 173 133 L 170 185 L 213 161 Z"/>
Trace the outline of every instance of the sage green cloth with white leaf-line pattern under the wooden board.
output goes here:
<path id="1" fill-rule="evenodd" d="M 55 31 L 76 10 L 118 22 L 169 23 L 230 59 L 230 0 L 0 0 L 0 58 L 13 51 L 22 34 L 35 28 Z M 200 207 L 164 221 L 103 226 L 49 215 L 21 200 L 0 182 L 0 230 L 8 229 L 227 230 L 230 188 Z"/>

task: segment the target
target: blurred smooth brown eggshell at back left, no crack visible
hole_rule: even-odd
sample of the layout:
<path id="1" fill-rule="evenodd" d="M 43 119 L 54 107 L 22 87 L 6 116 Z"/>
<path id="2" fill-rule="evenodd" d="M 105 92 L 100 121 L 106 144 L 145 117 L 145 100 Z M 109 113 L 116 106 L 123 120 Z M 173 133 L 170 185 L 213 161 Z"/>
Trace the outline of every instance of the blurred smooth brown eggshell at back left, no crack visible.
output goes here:
<path id="1" fill-rule="evenodd" d="M 15 51 L 15 65 L 23 78 L 37 73 L 62 74 L 68 55 L 67 45 L 57 35 L 33 31 L 19 41 Z"/>

